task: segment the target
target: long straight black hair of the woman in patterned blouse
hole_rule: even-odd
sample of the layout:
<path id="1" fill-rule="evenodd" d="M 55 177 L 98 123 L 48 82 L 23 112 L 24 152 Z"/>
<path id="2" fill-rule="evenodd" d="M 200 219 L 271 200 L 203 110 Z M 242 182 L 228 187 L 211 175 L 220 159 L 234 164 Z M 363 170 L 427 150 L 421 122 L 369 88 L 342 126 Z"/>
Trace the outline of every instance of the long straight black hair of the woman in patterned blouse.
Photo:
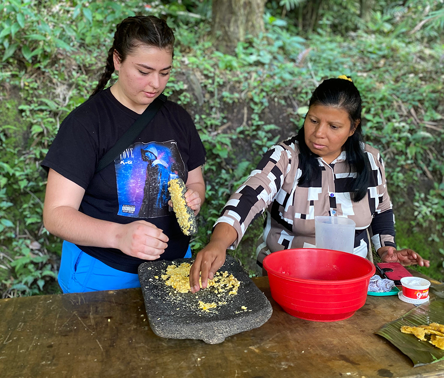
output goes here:
<path id="1" fill-rule="evenodd" d="M 353 127 L 359 121 L 355 132 L 348 137 L 342 146 L 342 150 L 347 154 L 346 161 L 349 164 L 350 172 L 353 166 L 357 173 L 357 178 L 353 181 L 352 188 L 350 188 L 350 194 L 353 201 L 358 202 L 367 194 L 370 182 L 370 162 L 363 149 L 361 95 L 350 79 L 331 78 L 324 80 L 315 89 L 308 106 L 311 107 L 312 105 L 342 109 L 348 114 L 350 127 Z M 302 169 L 299 184 L 302 184 L 319 177 L 321 169 L 317 161 L 318 155 L 311 152 L 305 143 L 303 126 L 299 129 L 296 140 L 299 143 L 299 158 Z"/>

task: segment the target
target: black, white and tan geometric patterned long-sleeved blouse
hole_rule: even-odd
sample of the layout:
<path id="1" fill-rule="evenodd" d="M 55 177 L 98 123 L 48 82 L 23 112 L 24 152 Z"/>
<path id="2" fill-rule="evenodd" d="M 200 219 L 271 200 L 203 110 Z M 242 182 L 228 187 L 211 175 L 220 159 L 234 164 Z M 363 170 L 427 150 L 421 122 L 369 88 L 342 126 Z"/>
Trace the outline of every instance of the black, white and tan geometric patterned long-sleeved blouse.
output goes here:
<path id="1" fill-rule="evenodd" d="M 239 244 L 247 227 L 266 210 L 263 241 L 257 249 L 258 265 L 271 252 L 315 246 L 314 217 L 346 217 L 356 223 L 354 254 L 366 257 L 369 239 L 375 249 L 396 247 L 392 204 L 385 183 L 384 164 L 379 151 L 363 146 L 370 161 L 367 196 L 359 202 L 350 198 L 349 173 L 343 151 L 331 164 L 318 157 L 321 176 L 298 185 L 301 176 L 296 137 L 273 146 L 262 157 L 246 182 L 231 195 L 218 223 L 228 223 L 238 234 L 230 246 Z"/>

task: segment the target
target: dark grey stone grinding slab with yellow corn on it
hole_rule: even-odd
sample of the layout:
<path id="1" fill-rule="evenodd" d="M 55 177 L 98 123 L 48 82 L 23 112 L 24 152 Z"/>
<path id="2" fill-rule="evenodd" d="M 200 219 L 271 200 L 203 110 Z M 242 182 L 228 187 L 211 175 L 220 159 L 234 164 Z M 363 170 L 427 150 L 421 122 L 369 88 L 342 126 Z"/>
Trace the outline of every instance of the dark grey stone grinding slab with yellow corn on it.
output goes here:
<path id="1" fill-rule="evenodd" d="M 258 328 L 270 318 L 273 311 L 271 303 L 231 256 L 226 257 L 219 272 L 227 271 L 241 281 L 237 295 L 219 293 L 221 296 L 218 297 L 211 288 L 201 289 L 195 294 L 178 293 L 161 278 L 168 265 L 193 262 L 190 259 L 160 260 L 139 266 L 149 325 L 157 336 L 217 344 L 228 336 Z M 198 307 L 199 301 L 226 304 L 210 308 L 207 312 Z"/>

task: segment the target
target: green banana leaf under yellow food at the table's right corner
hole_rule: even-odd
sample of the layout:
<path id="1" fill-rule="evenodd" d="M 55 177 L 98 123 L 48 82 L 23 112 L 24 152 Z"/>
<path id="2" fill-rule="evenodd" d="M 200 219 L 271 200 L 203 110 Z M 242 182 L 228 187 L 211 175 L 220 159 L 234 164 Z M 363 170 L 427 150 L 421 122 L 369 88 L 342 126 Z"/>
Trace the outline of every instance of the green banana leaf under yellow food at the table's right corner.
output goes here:
<path id="1" fill-rule="evenodd" d="M 414 367 L 444 361 L 444 350 L 428 341 L 421 341 L 414 335 L 403 334 L 401 326 L 416 327 L 430 323 L 444 324 L 444 285 L 431 287 L 430 301 L 408 311 L 393 322 L 384 324 L 374 333 L 389 340 L 406 354 Z"/>

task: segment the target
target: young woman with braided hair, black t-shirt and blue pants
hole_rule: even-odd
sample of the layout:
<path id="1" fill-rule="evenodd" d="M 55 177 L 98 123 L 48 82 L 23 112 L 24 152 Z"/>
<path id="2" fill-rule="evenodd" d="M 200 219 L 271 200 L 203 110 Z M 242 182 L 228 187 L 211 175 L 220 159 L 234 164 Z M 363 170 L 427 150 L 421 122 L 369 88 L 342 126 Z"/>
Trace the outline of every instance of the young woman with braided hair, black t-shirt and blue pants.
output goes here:
<path id="1" fill-rule="evenodd" d="M 48 170 L 44 225 L 65 240 L 64 293 L 138 287 L 144 261 L 191 257 L 189 236 L 168 205 L 167 182 L 184 180 L 186 202 L 197 214 L 205 198 L 205 150 L 182 107 L 165 101 L 132 145 L 97 170 L 165 89 L 173 45 L 173 31 L 157 17 L 118 24 L 97 88 L 62 122 L 42 162 Z M 114 71 L 118 80 L 104 89 Z"/>

